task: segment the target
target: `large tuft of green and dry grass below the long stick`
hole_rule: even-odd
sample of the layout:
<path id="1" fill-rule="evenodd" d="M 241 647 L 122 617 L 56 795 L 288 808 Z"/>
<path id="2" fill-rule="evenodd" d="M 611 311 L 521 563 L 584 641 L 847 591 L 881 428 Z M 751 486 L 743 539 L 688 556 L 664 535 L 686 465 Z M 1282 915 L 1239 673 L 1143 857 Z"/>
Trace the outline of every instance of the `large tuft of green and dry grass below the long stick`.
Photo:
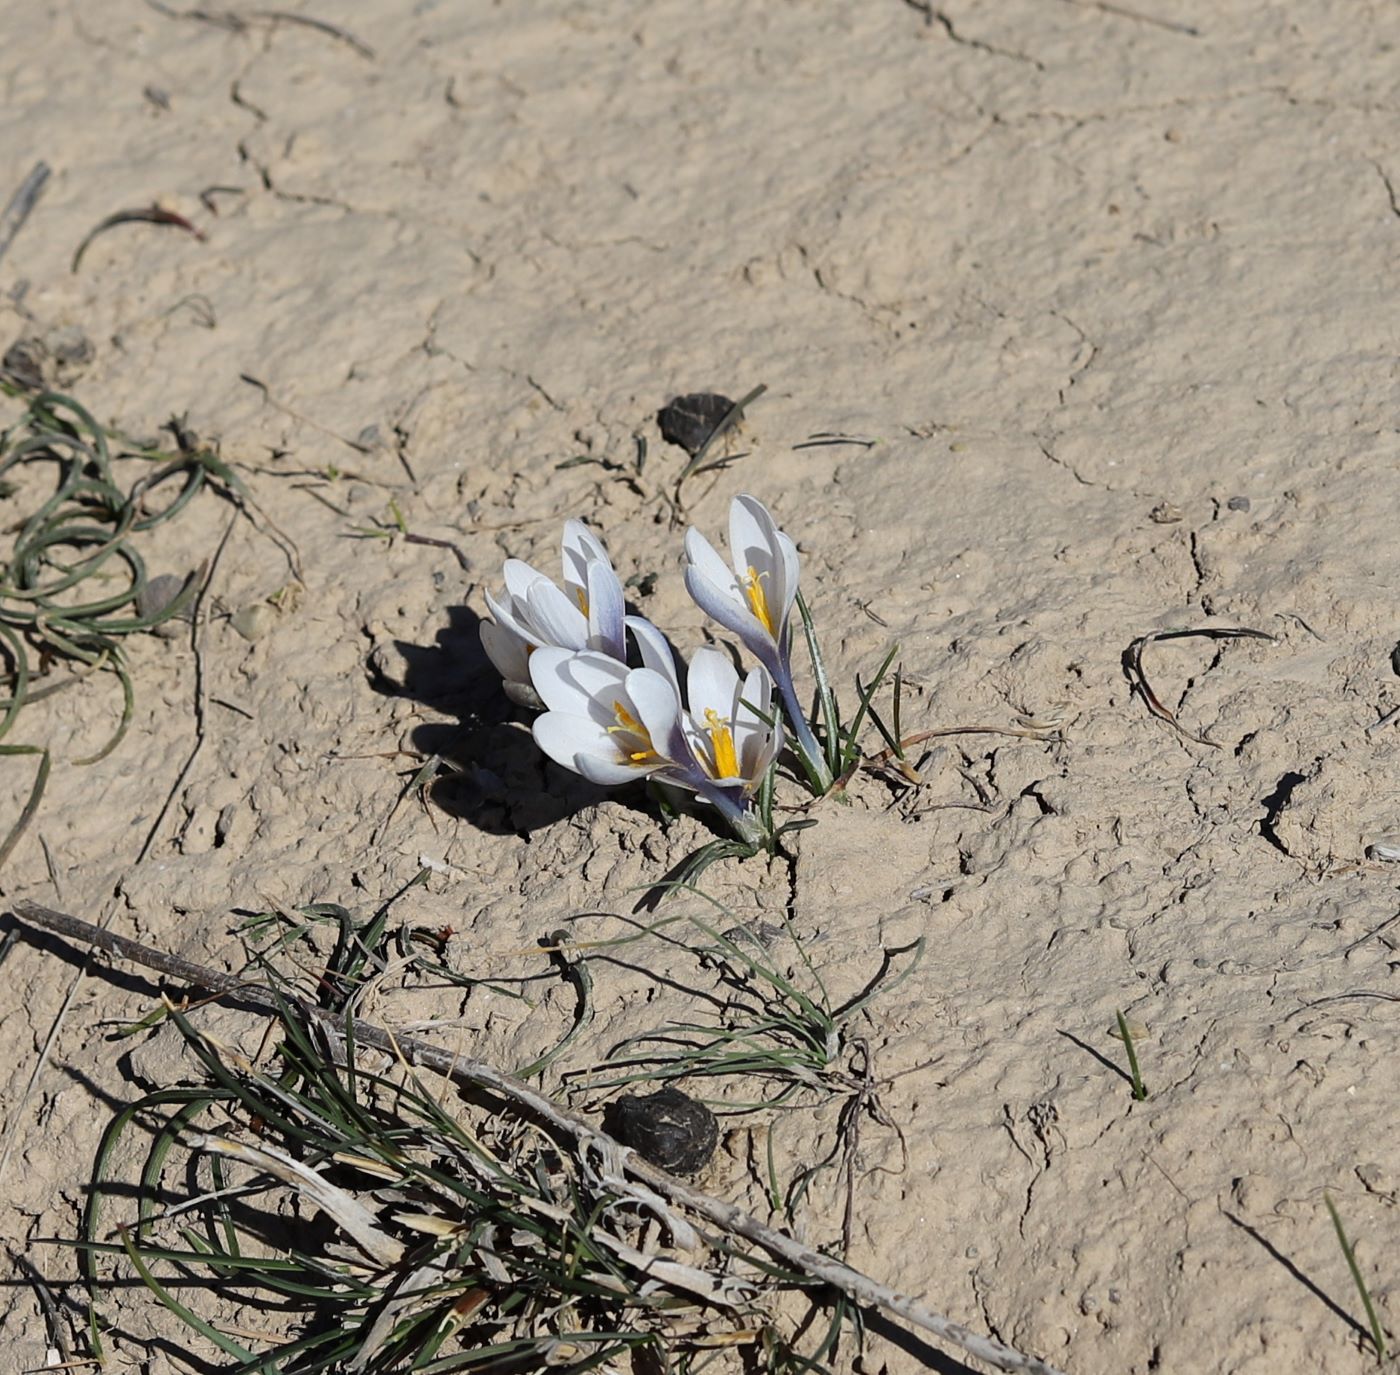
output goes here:
<path id="1" fill-rule="evenodd" d="M 346 944 L 342 980 L 364 955 Z M 731 1346 L 762 1375 L 785 1375 L 822 1372 L 834 1354 L 847 1304 L 818 1350 L 799 1351 L 771 1309 L 783 1294 L 825 1302 L 809 1277 L 701 1242 L 622 1178 L 602 1138 L 575 1147 L 498 1106 L 444 1101 L 402 1059 L 365 1067 L 353 1011 L 335 1035 L 283 1000 L 266 1067 L 169 1015 L 203 1078 L 116 1115 L 74 1242 L 98 1360 L 115 1322 L 109 1263 L 130 1266 L 237 1375 L 585 1371 L 629 1353 L 697 1372 Z M 115 1169 L 133 1129 L 148 1141 L 134 1187 Z M 217 1319 L 202 1302 L 210 1288 Z M 227 1316 L 238 1304 L 258 1319 Z M 272 1312 L 287 1330 L 262 1337 Z"/>

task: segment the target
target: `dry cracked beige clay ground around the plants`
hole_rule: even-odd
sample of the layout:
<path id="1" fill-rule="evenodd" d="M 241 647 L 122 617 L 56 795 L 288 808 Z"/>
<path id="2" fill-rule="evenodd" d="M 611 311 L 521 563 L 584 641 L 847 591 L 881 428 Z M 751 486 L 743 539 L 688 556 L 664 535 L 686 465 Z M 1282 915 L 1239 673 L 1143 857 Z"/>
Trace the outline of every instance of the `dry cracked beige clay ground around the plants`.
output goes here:
<path id="1" fill-rule="evenodd" d="M 130 738 L 56 773 L 4 898 L 221 968 L 232 909 L 363 910 L 424 858 L 403 912 L 454 926 L 463 968 L 518 972 L 570 916 L 630 912 L 706 833 L 545 767 L 483 668 L 483 588 L 507 553 L 553 568 L 581 515 L 623 577 L 658 574 L 638 606 L 700 643 L 655 412 L 764 382 L 748 456 L 687 490 L 690 517 L 718 533 L 734 491 L 770 503 L 839 676 L 902 645 L 909 728 L 1030 716 L 1064 737 L 938 741 L 917 794 L 862 779 L 791 865 L 707 879 L 742 916 L 788 913 L 837 993 L 927 940 L 862 1025 L 882 1074 L 914 1073 L 883 1094 L 907 1165 L 893 1133 L 862 1136 L 851 1259 L 1082 1375 L 1361 1369 L 1323 1192 L 1400 1323 L 1396 874 L 1366 857 L 1400 826 L 1400 728 L 1371 730 L 1400 703 L 1400 11 L 1140 3 L 294 6 L 358 50 L 13 0 L 0 195 L 39 158 L 55 178 L 0 265 L 3 342 L 78 326 L 95 358 L 73 386 L 99 414 L 150 433 L 188 412 L 304 587 L 234 526 L 204 746 L 150 854 L 193 744 L 186 640 L 133 647 Z M 207 241 L 123 225 L 70 272 L 102 217 L 153 202 Z M 638 433 L 640 490 L 559 468 L 629 462 Z M 874 442 L 798 448 L 829 433 Z M 470 570 L 350 538 L 391 498 Z M 199 504 L 155 571 L 225 519 Z M 224 613 L 260 603 L 249 641 Z M 1203 624 L 1277 636 L 1147 651 L 1214 746 L 1123 671 L 1135 637 Z M 74 756 L 115 711 L 69 695 L 27 731 Z M 393 752 L 438 748 L 465 773 L 393 812 L 414 767 Z M 0 818 L 27 787 L 0 762 Z M 25 1248 L 71 1234 L 109 1105 L 189 1067 L 106 1039 L 148 983 L 90 977 L 20 1106 L 73 970 L 20 947 L 4 975 L 0 1235 Z M 693 1012 L 644 970 L 595 979 L 606 1017 L 574 1064 Z M 507 1063 L 568 1022 L 563 989 L 433 997 L 381 1012 L 461 1018 Z M 784 1119 L 781 1151 L 830 1129 Z M 704 1183 L 755 1206 L 743 1159 Z M 801 1225 L 836 1238 L 834 1186 Z M 62 1291 L 71 1255 L 31 1256 Z M 32 1291 L 0 1302 L 13 1368 L 42 1364 Z M 918 1357 L 875 1337 L 865 1361 Z"/>

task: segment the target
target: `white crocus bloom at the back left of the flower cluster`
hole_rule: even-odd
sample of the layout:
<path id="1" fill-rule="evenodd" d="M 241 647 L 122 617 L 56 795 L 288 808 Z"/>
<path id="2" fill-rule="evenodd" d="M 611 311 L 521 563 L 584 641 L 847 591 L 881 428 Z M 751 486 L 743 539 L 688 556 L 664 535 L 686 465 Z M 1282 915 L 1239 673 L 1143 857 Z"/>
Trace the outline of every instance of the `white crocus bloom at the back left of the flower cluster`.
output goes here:
<path id="1" fill-rule="evenodd" d="M 535 650 L 595 650 L 626 659 L 622 584 L 608 550 L 582 521 L 564 525 L 564 591 L 521 559 L 507 559 L 504 574 L 504 598 L 486 594 L 496 620 L 482 622 L 482 648 L 511 702 L 540 706 L 529 672 Z"/>

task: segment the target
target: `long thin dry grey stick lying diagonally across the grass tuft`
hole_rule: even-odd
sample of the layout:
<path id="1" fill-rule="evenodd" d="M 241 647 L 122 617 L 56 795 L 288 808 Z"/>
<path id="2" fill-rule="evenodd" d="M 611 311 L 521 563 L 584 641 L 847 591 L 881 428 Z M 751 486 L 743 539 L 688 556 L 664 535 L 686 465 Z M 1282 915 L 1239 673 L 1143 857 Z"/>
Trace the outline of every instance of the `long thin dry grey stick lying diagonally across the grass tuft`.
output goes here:
<path id="1" fill-rule="evenodd" d="M 262 984 L 245 983 L 234 975 L 192 965 L 189 961 L 179 959 L 175 955 L 167 955 L 164 951 L 153 949 L 123 935 L 116 935 L 113 931 L 105 931 L 90 921 L 71 917 L 66 912 L 55 912 L 50 907 L 41 907 L 32 902 L 18 902 L 14 905 L 14 914 L 21 921 L 28 921 L 41 930 L 52 931 L 56 935 L 78 941 L 84 945 L 95 945 L 109 955 L 115 955 L 118 959 L 144 965 L 147 969 L 155 969 L 196 989 L 204 989 L 209 993 L 217 993 L 223 997 L 238 997 L 242 1003 L 267 1012 L 276 1014 L 281 1010 L 277 998 Z M 288 1001 L 293 1003 L 302 1017 L 319 1022 L 329 1032 L 343 1032 L 344 1024 L 335 1014 L 326 1012 L 323 1008 L 314 1007 L 309 1003 L 286 997 L 283 1005 Z M 861 1274 L 861 1271 L 851 1269 L 833 1256 L 823 1256 L 795 1242 L 791 1236 L 784 1236 L 781 1232 L 764 1227 L 757 1218 L 749 1217 L 748 1213 L 736 1208 L 732 1203 L 724 1203 L 721 1199 L 713 1199 L 699 1189 L 692 1189 L 683 1180 L 668 1175 L 664 1169 L 658 1169 L 631 1151 L 624 1150 L 619 1143 L 599 1131 L 591 1122 L 570 1112 L 567 1108 L 559 1106 L 528 1084 L 497 1070 L 483 1060 L 463 1060 L 426 1042 L 410 1036 L 393 1036 L 378 1026 L 365 1024 L 356 1024 L 356 1039 L 360 1045 L 374 1046 L 377 1050 L 396 1057 L 403 1056 L 416 1064 L 426 1066 L 437 1074 L 470 1084 L 473 1088 L 486 1089 L 514 1103 L 517 1108 L 525 1109 L 525 1112 L 540 1122 L 549 1123 L 550 1127 L 571 1137 L 580 1145 L 595 1145 L 613 1158 L 623 1159 L 623 1168 L 633 1179 L 654 1189 L 664 1199 L 679 1207 L 689 1208 L 724 1232 L 753 1242 L 753 1245 L 763 1248 L 769 1255 L 778 1257 L 795 1270 L 801 1270 L 804 1274 L 809 1274 L 812 1278 L 840 1290 L 857 1304 L 869 1308 L 883 1308 L 886 1312 L 903 1318 L 910 1326 L 932 1333 L 935 1337 L 959 1347 L 980 1361 L 986 1361 L 998 1371 L 1026 1372 L 1026 1375 L 1063 1375 L 1056 1367 L 1049 1365 L 1037 1357 L 1026 1355 L 991 1337 L 969 1332 L 962 1325 L 931 1312 L 918 1299 L 907 1294 L 900 1294 L 889 1285 Z"/>

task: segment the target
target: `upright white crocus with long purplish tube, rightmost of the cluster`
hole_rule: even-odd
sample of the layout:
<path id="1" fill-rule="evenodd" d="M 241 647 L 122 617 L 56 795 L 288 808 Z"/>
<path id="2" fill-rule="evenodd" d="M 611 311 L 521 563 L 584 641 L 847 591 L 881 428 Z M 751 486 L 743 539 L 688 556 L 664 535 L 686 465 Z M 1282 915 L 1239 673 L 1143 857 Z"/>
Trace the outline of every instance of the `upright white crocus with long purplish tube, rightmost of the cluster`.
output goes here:
<path id="1" fill-rule="evenodd" d="M 825 791 L 832 773 L 792 686 L 792 606 L 797 603 L 797 545 L 778 529 L 756 497 L 729 503 L 729 559 L 693 526 L 686 531 L 686 591 L 696 605 L 742 641 L 773 675 L 794 744 L 813 781 Z"/>

